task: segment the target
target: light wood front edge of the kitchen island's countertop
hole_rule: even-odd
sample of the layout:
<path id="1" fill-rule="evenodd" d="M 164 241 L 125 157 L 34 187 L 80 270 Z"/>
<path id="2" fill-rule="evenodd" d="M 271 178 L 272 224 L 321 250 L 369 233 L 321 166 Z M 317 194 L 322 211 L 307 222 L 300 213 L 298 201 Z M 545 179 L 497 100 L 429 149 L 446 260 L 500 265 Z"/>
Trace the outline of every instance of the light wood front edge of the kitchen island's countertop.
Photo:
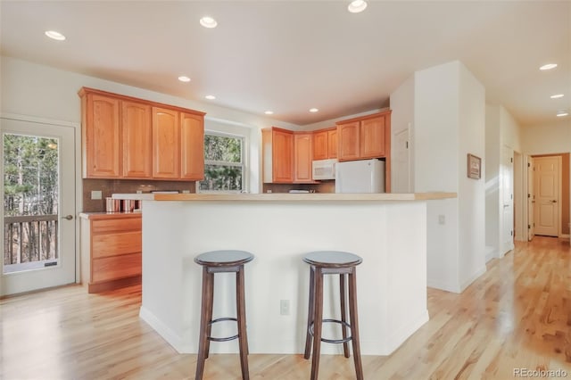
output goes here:
<path id="1" fill-rule="evenodd" d="M 456 193 L 412 194 L 154 194 L 155 201 L 244 201 L 244 202 L 331 202 L 331 201 L 431 201 L 456 198 Z"/>

